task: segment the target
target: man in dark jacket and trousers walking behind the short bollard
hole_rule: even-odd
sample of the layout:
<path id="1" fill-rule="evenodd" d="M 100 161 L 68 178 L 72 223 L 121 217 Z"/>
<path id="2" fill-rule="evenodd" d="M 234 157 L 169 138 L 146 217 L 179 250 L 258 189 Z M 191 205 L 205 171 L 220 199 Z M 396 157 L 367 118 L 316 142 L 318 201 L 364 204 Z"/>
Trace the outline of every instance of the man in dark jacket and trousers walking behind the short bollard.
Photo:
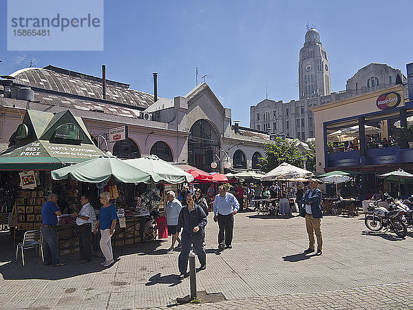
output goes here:
<path id="1" fill-rule="evenodd" d="M 199 205 L 195 205 L 194 197 L 191 192 L 187 192 L 187 203 L 188 205 L 183 207 L 180 211 L 177 227 L 178 232 L 183 228 L 181 234 L 182 250 L 178 258 L 180 280 L 187 276 L 191 245 L 193 245 L 198 260 L 200 260 L 200 270 L 207 267 L 207 254 L 204 249 L 204 227 L 207 225 L 207 215 Z"/>

